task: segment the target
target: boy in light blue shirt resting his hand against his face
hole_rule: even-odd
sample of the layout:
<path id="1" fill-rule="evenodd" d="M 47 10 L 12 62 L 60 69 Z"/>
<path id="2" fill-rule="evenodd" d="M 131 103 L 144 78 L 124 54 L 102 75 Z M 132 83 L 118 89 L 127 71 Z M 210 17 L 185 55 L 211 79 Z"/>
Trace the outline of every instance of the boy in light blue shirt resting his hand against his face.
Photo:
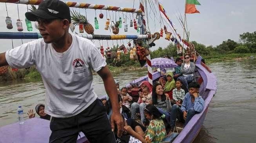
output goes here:
<path id="1" fill-rule="evenodd" d="M 178 118 L 180 122 L 185 122 L 185 126 L 194 114 L 202 112 L 204 101 L 199 95 L 199 88 L 200 85 L 197 82 L 191 82 L 189 84 L 189 92 L 185 95 L 182 107 L 176 104 L 172 105 L 171 129 L 174 129 L 176 118 Z"/>

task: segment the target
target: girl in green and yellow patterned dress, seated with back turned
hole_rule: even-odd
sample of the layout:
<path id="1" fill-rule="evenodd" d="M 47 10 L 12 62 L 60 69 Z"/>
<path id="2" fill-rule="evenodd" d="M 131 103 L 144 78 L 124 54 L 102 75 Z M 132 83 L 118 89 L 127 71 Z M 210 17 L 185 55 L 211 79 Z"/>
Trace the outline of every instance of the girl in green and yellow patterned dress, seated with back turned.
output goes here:
<path id="1" fill-rule="evenodd" d="M 144 114 L 150 122 L 143 137 L 128 125 L 125 125 L 123 128 L 134 138 L 139 139 L 142 143 L 159 143 L 165 138 L 169 131 L 169 125 L 165 119 L 165 115 L 161 114 L 152 104 L 146 105 Z"/>

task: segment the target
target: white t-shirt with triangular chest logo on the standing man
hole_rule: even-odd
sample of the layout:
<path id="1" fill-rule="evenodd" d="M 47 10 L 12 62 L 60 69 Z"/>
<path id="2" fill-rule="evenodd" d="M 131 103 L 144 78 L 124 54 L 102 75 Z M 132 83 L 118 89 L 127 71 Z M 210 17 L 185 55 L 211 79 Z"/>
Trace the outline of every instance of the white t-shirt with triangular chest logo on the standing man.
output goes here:
<path id="1" fill-rule="evenodd" d="M 12 68 L 36 65 L 46 89 L 45 113 L 56 118 L 79 114 L 96 100 L 91 69 L 97 72 L 107 64 L 90 40 L 71 35 L 72 44 L 63 53 L 37 39 L 5 54 Z"/>

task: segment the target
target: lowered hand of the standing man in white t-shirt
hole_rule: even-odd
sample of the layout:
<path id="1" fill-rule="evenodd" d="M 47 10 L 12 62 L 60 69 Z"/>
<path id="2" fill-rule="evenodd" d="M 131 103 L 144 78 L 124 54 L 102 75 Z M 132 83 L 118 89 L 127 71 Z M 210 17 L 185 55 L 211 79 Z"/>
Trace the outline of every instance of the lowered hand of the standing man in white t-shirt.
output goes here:
<path id="1" fill-rule="evenodd" d="M 123 134 L 123 117 L 120 112 L 113 112 L 111 115 L 111 128 L 114 131 L 114 125 L 117 125 L 117 136 L 120 138 Z"/>

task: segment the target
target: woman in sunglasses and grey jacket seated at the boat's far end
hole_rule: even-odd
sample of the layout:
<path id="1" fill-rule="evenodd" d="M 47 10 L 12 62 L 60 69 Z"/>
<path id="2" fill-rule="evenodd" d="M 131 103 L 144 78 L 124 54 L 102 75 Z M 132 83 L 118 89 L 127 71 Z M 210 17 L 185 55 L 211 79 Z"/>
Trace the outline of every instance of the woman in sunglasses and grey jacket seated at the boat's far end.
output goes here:
<path id="1" fill-rule="evenodd" d="M 186 91 L 188 91 L 188 83 L 194 80 L 194 70 L 196 66 L 193 62 L 190 62 L 189 54 L 185 54 L 183 58 L 185 59 L 185 63 L 182 63 L 180 67 L 182 76 L 178 77 L 178 79 L 182 80 L 184 86 L 187 88 Z"/>

